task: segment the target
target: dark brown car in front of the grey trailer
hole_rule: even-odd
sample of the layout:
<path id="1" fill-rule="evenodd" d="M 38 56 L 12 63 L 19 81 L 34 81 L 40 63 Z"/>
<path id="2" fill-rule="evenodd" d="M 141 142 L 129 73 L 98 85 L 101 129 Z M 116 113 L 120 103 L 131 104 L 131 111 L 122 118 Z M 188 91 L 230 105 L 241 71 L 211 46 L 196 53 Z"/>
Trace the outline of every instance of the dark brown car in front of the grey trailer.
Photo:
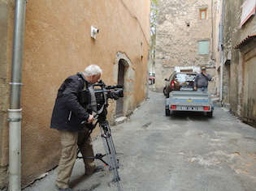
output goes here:
<path id="1" fill-rule="evenodd" d="M 196 72 L 174 71 L 169 79 L 165 79 L 166 84 L 163 87 L 164 96 L 169 98 L 171 91 L 193 91 L 193 82 L 196 76 Z"/>

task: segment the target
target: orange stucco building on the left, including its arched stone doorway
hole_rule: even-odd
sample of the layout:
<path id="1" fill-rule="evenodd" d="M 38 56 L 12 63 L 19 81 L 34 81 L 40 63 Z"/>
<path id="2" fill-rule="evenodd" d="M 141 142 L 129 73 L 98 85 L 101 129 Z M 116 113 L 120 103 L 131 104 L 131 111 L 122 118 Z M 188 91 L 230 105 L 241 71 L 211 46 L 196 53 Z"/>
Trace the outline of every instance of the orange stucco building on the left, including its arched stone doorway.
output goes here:
<path id="1" fill-rule="evenodd" d="M 22 80 L 17 83 L 11 82 L 11 63 L 15 4 L 19 2 L 25 4 L 25 24 L 18 66 Z M 92 34 L 92 28 L 99 31 Z M 11 122 L 7 121 L 11 86 L 23 84 L 21 153 L 15 153 L 15 158 L 21 159 L 24 187 L 59 163 L 59 134 L 50 129 L 50 117 L 59 86 L 67 76 L 94 63 L 102 67 L 107 85 L 124 85 L 124 99 L 111 101 L 108 107 L 111 124 L 114 117 L 129 115 L 146 99 L 150 0 L 0 0 L 0 49 L 0 190 L 7 190 L 8 140 L 15 139 L 10 137 Z M 95 129 L 93 135 L 98 132 Z M 15 165 L 20 167 L 20 163 Z M 19 177 L 17 182 L 19 186 Z"/>

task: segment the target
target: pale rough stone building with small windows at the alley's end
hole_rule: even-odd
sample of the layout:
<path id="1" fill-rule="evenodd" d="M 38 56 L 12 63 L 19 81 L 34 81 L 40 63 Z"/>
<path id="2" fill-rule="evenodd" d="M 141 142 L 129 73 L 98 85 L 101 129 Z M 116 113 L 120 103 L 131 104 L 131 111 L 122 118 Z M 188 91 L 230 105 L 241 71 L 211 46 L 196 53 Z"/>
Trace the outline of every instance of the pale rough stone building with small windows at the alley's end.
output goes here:
<path id="1" fill-rule="evenodd" d="M 199 71 L 200 66 L 206 66 L 215 77 L 215 6 L 216 0 L 159 0 L 156 91 L 163 91 L 164 79 L 176 67 Z M 215 93 L 215 81 L 209 83 L 208 89 Z"/>

